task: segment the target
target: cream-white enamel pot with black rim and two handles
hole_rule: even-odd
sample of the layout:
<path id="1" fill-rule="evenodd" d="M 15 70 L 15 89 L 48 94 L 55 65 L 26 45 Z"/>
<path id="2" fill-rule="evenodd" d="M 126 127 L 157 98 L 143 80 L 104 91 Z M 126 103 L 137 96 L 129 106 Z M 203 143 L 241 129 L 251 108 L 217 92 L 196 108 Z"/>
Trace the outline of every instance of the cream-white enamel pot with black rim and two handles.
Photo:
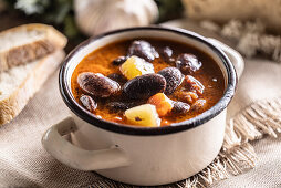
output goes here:
<path id="1" fill-rule="evenodd" d="M 75 102 L 71 92 L 71 76 L 76 65 L 95 49 L 135 38 L 178 41 L 211 55 L 225 76 L 226 91 L 222 98 L 195 118 L 154 128 L 107 122 L 85 111 Z M 233 64 L 241 73 L 243 61 L 236 51 L 216 40 L 186 30 L 132 28 L 89 39 L 67 55 L 60 72 L 60 91 L 72 117 L 45 132 L 43 147 L 54 158 L 72 168 L 95 170 L 102 176 L 126 184 L 164 185 L 190 177 L 207 167 L 221 148 L 226 107 L 237 84 Z M 72 143 L 62 137 L 69 133 Z"/>

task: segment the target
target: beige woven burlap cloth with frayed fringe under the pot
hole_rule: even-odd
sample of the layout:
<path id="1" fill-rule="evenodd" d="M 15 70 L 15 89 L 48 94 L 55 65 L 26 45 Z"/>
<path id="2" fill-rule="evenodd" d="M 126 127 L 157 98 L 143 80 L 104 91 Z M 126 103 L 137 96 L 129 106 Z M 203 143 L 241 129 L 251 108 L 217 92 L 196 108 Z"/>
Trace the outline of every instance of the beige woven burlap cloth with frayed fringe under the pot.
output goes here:
<path id="1" fill-rule="evenodd" d="M 188 29 L 192 30 L 194 28 Z M 194 30 L 196 31 L 196 29 Z M 246 60 L 244 73 L 228 109 L 229 119 L 235 117 L 235 121 L 230 121 L 233 123 L 233 127 L 229 126 L 230 129 L 227 132 L 228 135 L 235 134 L 235 136 L 232 135 L 231 140 L 226 139 L 226 150 L 222 149 L 218 159 L 198 176 L 167 187 L 191 187 L 201 186 L 201 184 L 214 187 L 281 187 L 281 139 L 263 136 L 262 140 L 251 142 L 258 161 L 251 145 L 247 144 L 248 139 L 261 138 L 267 132 L 273 137 L 278 136 L 280 130 L 278 121 L 281 119 L 281 113 L 277 112 L 281 112 L 281 104 L 275 102 L 279 101 L 278 96 L 281 96 L 280 83 L 280 64 L 261 59 Z M 274 104 L 271 103 L 272 101 Z M 274 111 L 270 108 L 263 113 L 272 111 L 271 115 L 273 114 L 274 118 L 262 117 L 256 124 L 253 121 L 252 127 L 249 125 L 249 121 L 242 122 L 248 118 L 247 113 L 249 115 L 257 112 L 254 105 L 251 105 L 250 108 L 247 107 L 252 103 L 273 105 Z M 277 105 L 280 105 L 280 108 Z M 246 116 L 236 118 L 237 114 Z M 111 181 L 94 173 L 71 169 L 60 164 L 43 149 L 41 145 L 43 132 L 67 115 L 69 109 L 59 93 L 56 71 L 21 114 L 11 123 L 0 127 L 0 187 L 131 187 Z M 262 122 L 263 119 L 269 123 Z M 257 128 L 263 123 L 267 127 Z M 248 127 L 251 132 L 239 130 L 241 127 Z M 251 169 L 253 166 L 256 168 Z M 228 173 L 228 168 L 232 173 Z M 216 181 L 238 174 L 240 175 Z M 212 184 L 215 181 L 216 184 Z"/>

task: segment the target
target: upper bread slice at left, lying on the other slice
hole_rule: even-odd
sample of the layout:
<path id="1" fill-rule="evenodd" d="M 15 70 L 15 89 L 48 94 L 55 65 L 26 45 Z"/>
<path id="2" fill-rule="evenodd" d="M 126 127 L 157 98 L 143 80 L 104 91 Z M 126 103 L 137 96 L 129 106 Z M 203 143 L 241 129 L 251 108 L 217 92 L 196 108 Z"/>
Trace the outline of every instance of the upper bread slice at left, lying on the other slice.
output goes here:
<path id="1" fill-rule="evenodd" d="M 0 72 L 63 49 L 66 38 L 53 27 L 32 23 L 0 32 Z"/>

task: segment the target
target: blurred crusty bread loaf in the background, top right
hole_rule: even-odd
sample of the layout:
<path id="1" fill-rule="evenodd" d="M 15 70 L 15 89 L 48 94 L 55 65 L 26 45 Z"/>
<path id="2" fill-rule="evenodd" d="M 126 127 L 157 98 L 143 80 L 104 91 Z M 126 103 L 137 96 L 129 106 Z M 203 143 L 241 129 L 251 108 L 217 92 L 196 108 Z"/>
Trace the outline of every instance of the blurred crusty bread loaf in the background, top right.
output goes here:
<path id="1" fill-rule="evenodd" d="M 194 20 L 228 22 L 231 19 L 260 19 L 268 29 L 281 33 L 280 0 L 183 0 L 186 14 Z"/>

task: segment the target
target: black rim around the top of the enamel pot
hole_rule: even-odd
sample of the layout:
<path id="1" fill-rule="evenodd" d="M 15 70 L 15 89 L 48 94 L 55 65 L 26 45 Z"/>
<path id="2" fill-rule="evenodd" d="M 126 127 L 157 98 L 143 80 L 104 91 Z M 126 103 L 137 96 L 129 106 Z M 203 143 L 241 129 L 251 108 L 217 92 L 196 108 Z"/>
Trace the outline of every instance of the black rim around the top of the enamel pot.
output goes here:
<path id="1" fill-rule="evenodd" d="M 170 126 L 165 127 L 136 127 L 136 126 L 128 126 L 123 125 L 114 122 L 104 121 L 102 118 L 96 117 L 95 115 L 91 114 L 86 109 L 84 109 L 82 106 L 79 105 L 79 103 L 74 100 L 72 96 L 72 92 L 66 86 L 66 69 L 69 61 L 72 59 L 73 55 L 75 55 L 81 49 L 86 46 L 87 44 L 116 33 L 122 32 L 128 32 L 128 31 L 166 31 L 166 32 L 173 32 L 179 35 L 185 35 L 187 38 L 192 38 L 204 44 L 206 44 L 208 48 L 210 48 L 223 62 L 227 74 L 228 74 L 228 82 L 227 82 L 227 88 L 223 94 L 223 96 L 220 98 L 220 101 L 215 104 L 210 109 L 204 112 L 202 114 L 180 122 L 180 123 L 174 123 Z M 113 41 L 114 42 L 114 41 Z M 204 123 L 210 121 L 212 117 L 220 114 L 230 103 L 237 85 L 237 74 L 236 70 L 230 62 L 230 60 L 227 58 L 227 55 L 218 48 L 216 48 L 214 44 L 211 44 L 206 38 L 194 33 L 191 31 L 187 31 L 184 29 L 171 29 L 171 28 L 164 28 L 164 27 L 136 27 L 136 28 L 128 28 L 128 29 L 121 29 L 115 30 L 112 32 L 107 32 L 94 38 L 90 38 L 86 41 L 82 42 L 80 45 L 77 45 L 72 52 L 64 59 L 60 74 L 59 74 L 59 85 L 60 85 L 60 92 L 62 95 L 62 98 L 64 103 L 67 105 L 67 107 L 80 118 L 87 122 L 89 124 L 100 127 L 102 129 L 106 129 L 110 132 L 118 133 L 118 134 L 125 134 L 125 135 L 139 135 L 139 136 L 152 136 L 152 135 L 166 135 L 166 134 L 173 134 L 178 133 L 183 130 L 192 129 L 195 127 L 198 127 L 202 125 Z"/>

